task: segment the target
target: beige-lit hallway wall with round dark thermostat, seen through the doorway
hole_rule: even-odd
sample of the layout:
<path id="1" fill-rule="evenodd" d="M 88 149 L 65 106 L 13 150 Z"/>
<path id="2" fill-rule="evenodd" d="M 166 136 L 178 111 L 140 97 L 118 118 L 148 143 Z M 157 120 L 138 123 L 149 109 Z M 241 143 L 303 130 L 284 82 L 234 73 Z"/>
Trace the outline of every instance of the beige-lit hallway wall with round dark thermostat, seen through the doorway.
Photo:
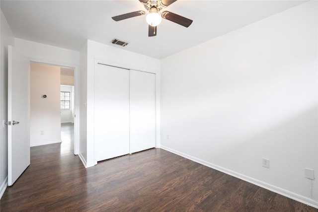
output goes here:
<path id="1" fill-rule="evenodd" d="M 62 142 L 60 67 L 31 63 L 30 70 L 30 145 Z"/>

